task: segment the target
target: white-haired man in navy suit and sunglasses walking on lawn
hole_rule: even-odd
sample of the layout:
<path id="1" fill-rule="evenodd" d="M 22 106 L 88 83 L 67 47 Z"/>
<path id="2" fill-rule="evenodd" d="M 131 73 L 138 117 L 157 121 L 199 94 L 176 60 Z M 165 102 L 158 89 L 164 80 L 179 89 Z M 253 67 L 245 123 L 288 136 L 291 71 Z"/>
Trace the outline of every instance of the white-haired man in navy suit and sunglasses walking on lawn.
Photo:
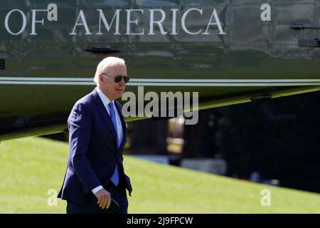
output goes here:
<path id="1" fill-rule="evenodd" d="M 126 189 L 132 192 L 122 157 L 127 127 L 116 100 L 129 81 L 124 60 L 103 59 L 94 81 L 97 87 L 75 103 L 68 118 L 70 150 L 58 197 L 67 200 L 67 213 L 110 213 L 114 199 L 114 212 L 126 214 Z"/>

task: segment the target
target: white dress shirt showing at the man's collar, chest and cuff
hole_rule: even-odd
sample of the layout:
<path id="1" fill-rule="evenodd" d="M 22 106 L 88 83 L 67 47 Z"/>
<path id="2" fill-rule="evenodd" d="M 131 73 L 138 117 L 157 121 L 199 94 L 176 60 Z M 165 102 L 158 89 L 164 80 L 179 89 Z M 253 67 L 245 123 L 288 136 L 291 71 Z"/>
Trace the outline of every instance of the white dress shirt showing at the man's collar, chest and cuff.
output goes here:
<path id="1" fill-rule="evenodd" d="M 109 98 L 103 93 L 100 88 L 97 88 L 97 94 L 99 95 L 100 99 L 102 100 L 103 105 L 105 105 L 105 108 L 107 109 L 107 113 L 110 115 L 110 108 L 109 108 L 109 103 L 112 102 L 114 104 L 114 100 L 110 101 Z M 122 131 L 122 123 L 121 119 L 118 113 L 118 110 L 114 104 L 114 113 L 116 115 L 116 122 L 117 122 L 117 137 L 119 139 L 119 145 L 121 145 L 121 142 L 123 140 L 123 131 Z M 102 190 L 102 186 L 99 185 L 98 187 L 95 187 L 92 192 L 95 194 L 97 191 Z"/>

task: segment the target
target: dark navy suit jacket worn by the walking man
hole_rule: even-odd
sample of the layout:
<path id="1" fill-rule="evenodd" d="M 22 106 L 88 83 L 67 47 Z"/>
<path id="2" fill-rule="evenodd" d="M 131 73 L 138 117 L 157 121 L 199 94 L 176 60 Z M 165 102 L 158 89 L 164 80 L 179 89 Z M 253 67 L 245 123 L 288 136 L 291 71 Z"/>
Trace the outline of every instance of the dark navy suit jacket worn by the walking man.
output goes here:
<path id="1" fill-rule="evenodd" d="M 78 100 L 68 118 L 69 157 L 63 187 L 58 197 L 78 204 L 90 204 L 95 187 L 104 187 L 110 182 L 115 165 L 119 178 L 131 196 L 130 179 L 124 174 L 123 147 L 127 140 L 127 127 L 122 115 L 122 106 L 114 102 L 119 113 L 123 140 L 117 149 L 114 125 L 102 103 L 97 90 Z"/>

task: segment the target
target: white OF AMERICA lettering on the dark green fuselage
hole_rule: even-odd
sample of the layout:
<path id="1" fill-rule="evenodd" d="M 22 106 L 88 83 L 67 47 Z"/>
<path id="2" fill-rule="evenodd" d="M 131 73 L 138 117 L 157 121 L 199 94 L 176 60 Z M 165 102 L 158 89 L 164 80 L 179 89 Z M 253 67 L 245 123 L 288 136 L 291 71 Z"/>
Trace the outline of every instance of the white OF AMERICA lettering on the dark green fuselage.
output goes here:
<path id="1" fill-rule="evenodd" d="M 31 9 L 31 16 L 21 11 L 20 9 L 12 9 L 6 14 L 4 26 L 6 31 L 11 35 L 19 35 L 26 33 L 27 22 L 31 23 L 31 36 L 37 36 L 36 28 L 38 26 L 46 26 L 45 18 L 39 15 L 41 11 L 46 9 Z M 91 14 L 92 11 L 90 11 Z M 110 13 L 110 11 L 108 11 Z M 48 11 L 48 14 L 50 11 Z M 16 14 L 16 15 L 15 15 Z M 20 15 L 18 15 L 20 14 Z M 38 15 L 37 15 L 38 14 Z M 218 35 L 225 35 L 223 26 L 219 19 L 216 9 L 210 9 L 210 13 L 201 8 L 190 8 L 185 11 L 179 9 L 115 9 L 111 14 L 106 14 L 102 9 L 96 9 L 96 21 L 88 21 L 92 19 L 85 10 L 80 9 L 76 16 L 75 22 L 71 24 L 70 36 L 75 36 L 78 31 L 85 31 L 86 36 L 90 35 L 178 35 L 178 33 L 186 33 L 189 35 L 209 35 L 212 29 Z M 193 14 L 193 15 L 191 15 Z M 59 15 L 59 14 L 58 14 Z M 16 26 L 11 28 L 10 22 L 17 24 L 14 18 L 21 20 L 21 27 Z M 203 25 L 199 26 L 194 23 L 195 18 L 204 21 Z M 145 21 L 147 19 L 147 21 Z M 30 20 L 30 21 L 28 21 Z M 18 21 L 18 24 L 20 22 Z M 52 22 L 50 22 L 52 23 Z M 59 23 L 56 20 L 54 23 Z M 15 30 L 15 31 L 14 31 Z"/>

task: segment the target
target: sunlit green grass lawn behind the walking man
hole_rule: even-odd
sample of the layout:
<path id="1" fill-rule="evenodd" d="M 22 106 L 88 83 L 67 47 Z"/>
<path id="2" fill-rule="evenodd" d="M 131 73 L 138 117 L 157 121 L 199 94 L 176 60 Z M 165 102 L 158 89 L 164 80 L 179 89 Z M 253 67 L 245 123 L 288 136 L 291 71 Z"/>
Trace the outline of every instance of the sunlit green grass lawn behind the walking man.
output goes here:
<path id="1" fill-rule="evenodd" d="M 48 205 L 60 190 L 68 144 L 22 138 L 0 144 L 0 213 L 64 213 L 65 202 Z M 320 213 L 320 195 L 209 175 L 124 157 L 134 191 L 129 213 Z M 261 190 L 271 192 L 262 207 Z M 52 198 L 50 198 L 52 199 Z M 54 200 L 50 200 L 53 202 Z"/>

